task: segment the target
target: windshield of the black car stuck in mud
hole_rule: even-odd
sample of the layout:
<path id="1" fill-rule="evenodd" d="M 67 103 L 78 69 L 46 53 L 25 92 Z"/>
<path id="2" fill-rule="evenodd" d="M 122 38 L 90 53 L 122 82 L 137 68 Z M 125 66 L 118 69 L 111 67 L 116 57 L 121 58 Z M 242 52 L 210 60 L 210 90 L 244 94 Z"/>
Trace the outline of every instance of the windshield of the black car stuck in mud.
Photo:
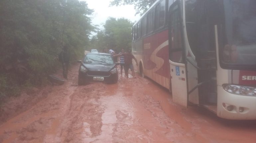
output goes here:
<path id="1" fill-rule="evenodd" d="M 114 64 L 114 61 L 110 55 L 87 54 L 83 60 L 83 63 L 112 65 Z"/>

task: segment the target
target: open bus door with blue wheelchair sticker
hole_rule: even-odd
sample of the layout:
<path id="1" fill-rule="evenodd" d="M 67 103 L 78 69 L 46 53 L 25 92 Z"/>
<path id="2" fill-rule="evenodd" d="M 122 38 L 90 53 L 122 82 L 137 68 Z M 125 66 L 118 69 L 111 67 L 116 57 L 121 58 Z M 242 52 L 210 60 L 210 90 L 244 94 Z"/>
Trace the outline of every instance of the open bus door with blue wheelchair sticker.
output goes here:
<path id="1" fill-rule="evenodd" d="M 173 101 L 182 106 L 188 105 L 187 70 L 183 34 L 181 2 L 175 1 L 168 13 L 169 63 Z"/>

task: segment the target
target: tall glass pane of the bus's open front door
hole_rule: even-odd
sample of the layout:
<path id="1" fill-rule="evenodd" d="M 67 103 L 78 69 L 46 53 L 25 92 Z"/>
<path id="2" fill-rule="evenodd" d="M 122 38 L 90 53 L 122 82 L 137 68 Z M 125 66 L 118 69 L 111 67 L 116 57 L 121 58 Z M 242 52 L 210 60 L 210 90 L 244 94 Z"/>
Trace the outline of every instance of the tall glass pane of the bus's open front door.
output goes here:
<path id="1" fill-rule="evenodd" d="M 182 48 L 182 35 L 181 23 L 179 17 L 178 7 L 177 10 L 171 14 L 169 29 L 169 47 L 170 47 L 170 60 L 177 63 L 184 63 L 183 48 Z"/>

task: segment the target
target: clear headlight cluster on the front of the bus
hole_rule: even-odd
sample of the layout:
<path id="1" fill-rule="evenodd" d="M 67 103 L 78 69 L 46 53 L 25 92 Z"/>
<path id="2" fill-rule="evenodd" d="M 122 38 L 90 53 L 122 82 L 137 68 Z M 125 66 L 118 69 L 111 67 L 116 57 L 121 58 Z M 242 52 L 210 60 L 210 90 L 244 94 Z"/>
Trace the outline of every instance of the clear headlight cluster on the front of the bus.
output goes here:
<path id="1" fill-rule="evenodd" d="M 247 95 L 247 96 L 256 96 L 256 88 L 248 86 L 239 86 L 239 85 L 228 85 L 223 84 L 223 89 L 229 93 L 238 94 L 238 95 Z"/>

